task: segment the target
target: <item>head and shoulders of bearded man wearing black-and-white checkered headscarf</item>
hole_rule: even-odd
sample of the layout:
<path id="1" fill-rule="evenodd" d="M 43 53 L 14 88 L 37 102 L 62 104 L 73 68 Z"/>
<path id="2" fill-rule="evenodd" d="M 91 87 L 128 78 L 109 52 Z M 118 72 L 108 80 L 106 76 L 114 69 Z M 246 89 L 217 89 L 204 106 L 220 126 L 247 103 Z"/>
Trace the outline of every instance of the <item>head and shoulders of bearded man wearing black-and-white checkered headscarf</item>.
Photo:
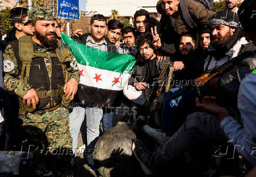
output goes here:
<path id="1" fill-rule="evenodd" d="M 210 55 L 204 63 L 204 71 L 220 66 L 242 52 L 250 50 L 251 45 L 247 45 L 248 41 L 245 37 L 241 37 L 241 28 L 236 13 L 229 10 L 218 12 L 210 19 L 209 25 L 213 49 L 210 50 Z"/>

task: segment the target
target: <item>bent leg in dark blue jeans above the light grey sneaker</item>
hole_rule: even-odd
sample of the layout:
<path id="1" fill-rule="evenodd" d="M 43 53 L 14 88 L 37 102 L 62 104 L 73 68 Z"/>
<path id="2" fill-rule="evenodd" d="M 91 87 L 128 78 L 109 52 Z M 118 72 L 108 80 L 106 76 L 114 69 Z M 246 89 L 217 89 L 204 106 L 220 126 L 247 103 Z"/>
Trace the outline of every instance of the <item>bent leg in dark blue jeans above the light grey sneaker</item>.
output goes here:
<path id="1" fill-rule="evenodd" d="M 164 131 L 167 136 L 171 136 L 175 131 L 177 131 L 178 127 L 174 128 L 174 124 L 176 124 L 177 121 L 181 122 L 180 119 L 185 120 L 187 114 L 193 112 L 196 108 L 197 91 L 194 90 L 188 91 L 182 96 L 170 100 L 171 95 L 177 95 L 181 92 L 183 92 L 182 88 L 170 89 L 166 94 L 166 98 L 164 98 L 161 115 L 161 130 Z"/>

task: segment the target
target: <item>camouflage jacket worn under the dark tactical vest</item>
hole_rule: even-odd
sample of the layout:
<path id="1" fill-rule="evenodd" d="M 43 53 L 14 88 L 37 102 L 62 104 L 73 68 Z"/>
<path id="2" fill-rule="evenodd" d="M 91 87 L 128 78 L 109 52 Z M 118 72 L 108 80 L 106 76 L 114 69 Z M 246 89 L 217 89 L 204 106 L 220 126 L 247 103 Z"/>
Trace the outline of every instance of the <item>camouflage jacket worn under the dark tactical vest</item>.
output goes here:
<path id="1" fill-rule="evenodd" d="M 52 51 L 52 48 L 46 48 L 42 45 L 36 44 L 33 42 L 33 45 L 36 48 L 36 51 L 39 51 L 40 53 L 44 53 L 46 51 Z M 73 57 L 72 53 L 70 52 L 70 56 L 75 61 L 75 57 Z M 15 58 L 14 50 L 11 46 L 11 44 L 8 44 L 6 47 L 6 50 L 3 55 L 4 58 L 4 84 L 6 90 L 11 93 L 18 95 L 20 98 L 23 98 L 23 96 L 26 94 L 26 92 L 32 88 L 32 86 L 21 79 L 17 79 L 19 75 L 18 71 L 18 62 Z M 48 65 L 48 60 L 45 58 L 46 67 L 48 68 L 48 74 L 51 72 L 50 65 Z M 72 63 L 70 63 L 71 65 Z M 74 78 L 79 83 L 80 81 L 80 74 L 78 70 L 75 70 L 70 65 L 67 66 L 67 70 L 69 73 L 69 79 Z"/>

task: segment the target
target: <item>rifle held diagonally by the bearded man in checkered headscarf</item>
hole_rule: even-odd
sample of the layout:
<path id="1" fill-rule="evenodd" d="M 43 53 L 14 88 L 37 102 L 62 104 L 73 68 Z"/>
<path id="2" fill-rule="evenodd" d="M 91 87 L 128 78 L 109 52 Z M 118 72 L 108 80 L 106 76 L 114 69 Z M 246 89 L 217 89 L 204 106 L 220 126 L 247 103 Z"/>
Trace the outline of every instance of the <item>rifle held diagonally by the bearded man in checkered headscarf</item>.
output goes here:
<path id="1" fill-rule="evenodd" d="M 176 99 L 176 98 L 180 97 L 181 95 L 183 95 L 184 93 L 187 93 L 188 91 L 191 91 L 193 89 L 197 89 L 199 98 L 202 99 L 203 98 L 203 95 L 201 94 L 202 86 L 207 84 L 207 82 L 210 81 L 212 78 L 218 77 L 221 74 L 237 67 L 237 65 L 240 64 L 242 60 L 244 60 L 245 58 L 248 58 L 250 56 L 253 56 L 255 53 L 256 53 L 256 50 L 245 51 L 244 53 L 238 55 L 237 57 L 234 57 L 230 61 L 227 61 L 225 64 L 220 65 L 219 67 L 214 67 L 211 70 L 208 70 L 206 73 L 204 73 L 203 75 L 201 75 L 200 77 L 195 79 L 194 86 L 188 85 L 186 88 L 184 88 L 183 92 L 180 92 L 177 95 L 171 95 L 170 100 Z"/>

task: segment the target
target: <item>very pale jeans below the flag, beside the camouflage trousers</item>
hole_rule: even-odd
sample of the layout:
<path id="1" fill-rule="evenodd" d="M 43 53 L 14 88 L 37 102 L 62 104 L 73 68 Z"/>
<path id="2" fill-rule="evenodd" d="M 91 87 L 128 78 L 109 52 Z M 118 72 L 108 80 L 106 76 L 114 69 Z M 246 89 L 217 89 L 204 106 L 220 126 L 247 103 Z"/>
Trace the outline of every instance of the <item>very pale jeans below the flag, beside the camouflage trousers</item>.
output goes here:
<path id="1" fill-rule="evenodd" d="M 72 149 L 78 146 L 78 134 L 83 120 L 86 119 L 87 151 L 92 153 L 100 133 L 100 120 L 103 110 L 99 107 L 74 107 L 69 114 L 69 131 L 73 138 Z"/>

